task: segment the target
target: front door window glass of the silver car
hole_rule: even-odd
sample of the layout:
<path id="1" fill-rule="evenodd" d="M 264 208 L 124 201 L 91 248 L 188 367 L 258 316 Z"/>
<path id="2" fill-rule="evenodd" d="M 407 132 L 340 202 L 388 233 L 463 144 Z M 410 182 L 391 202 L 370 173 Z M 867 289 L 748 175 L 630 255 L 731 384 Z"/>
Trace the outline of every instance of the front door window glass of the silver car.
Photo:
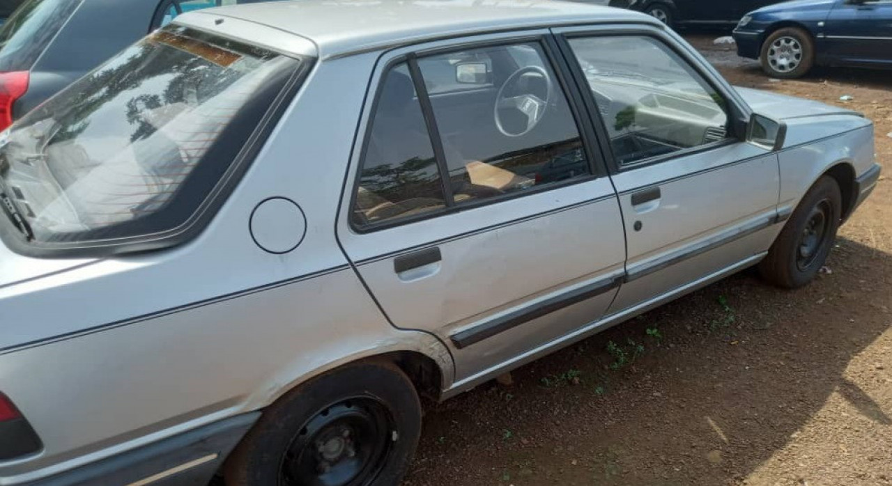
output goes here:
<path id="1" fill-rule="evenodd" d="M 728 136 L 723 97 L 657 39 L 576 38 L 570 45 L 619 163 L 642 161 Z"/>

